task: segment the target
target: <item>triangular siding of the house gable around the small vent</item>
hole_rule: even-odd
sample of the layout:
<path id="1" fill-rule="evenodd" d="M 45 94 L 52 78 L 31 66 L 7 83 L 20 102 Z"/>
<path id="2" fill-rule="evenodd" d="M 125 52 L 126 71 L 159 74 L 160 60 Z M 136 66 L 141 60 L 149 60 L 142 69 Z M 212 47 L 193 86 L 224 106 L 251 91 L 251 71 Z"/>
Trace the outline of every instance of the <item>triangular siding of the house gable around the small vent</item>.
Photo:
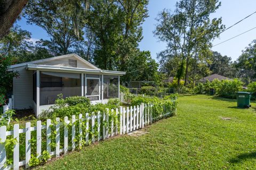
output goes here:
<path id="1" fill-rule="evenodd" d="M 92 66 L 90 66 L 89 64 L 86 64 L 86 63 L 82 62 L 81 60 L 78 60 L 74 56 L 59 58 L 59 59 L 56 59 L 56 60 L 51 60 L 51 61 L 42 62 L 42 63 L 36 63 L 36 64 L 38 64 L 38 65 L 54 65 L 54 66 L 65 66 L 65 67 L 67 67 L 69 59 L 77 60 L 77 67 L 78 68 L 95 69 Z"/>

